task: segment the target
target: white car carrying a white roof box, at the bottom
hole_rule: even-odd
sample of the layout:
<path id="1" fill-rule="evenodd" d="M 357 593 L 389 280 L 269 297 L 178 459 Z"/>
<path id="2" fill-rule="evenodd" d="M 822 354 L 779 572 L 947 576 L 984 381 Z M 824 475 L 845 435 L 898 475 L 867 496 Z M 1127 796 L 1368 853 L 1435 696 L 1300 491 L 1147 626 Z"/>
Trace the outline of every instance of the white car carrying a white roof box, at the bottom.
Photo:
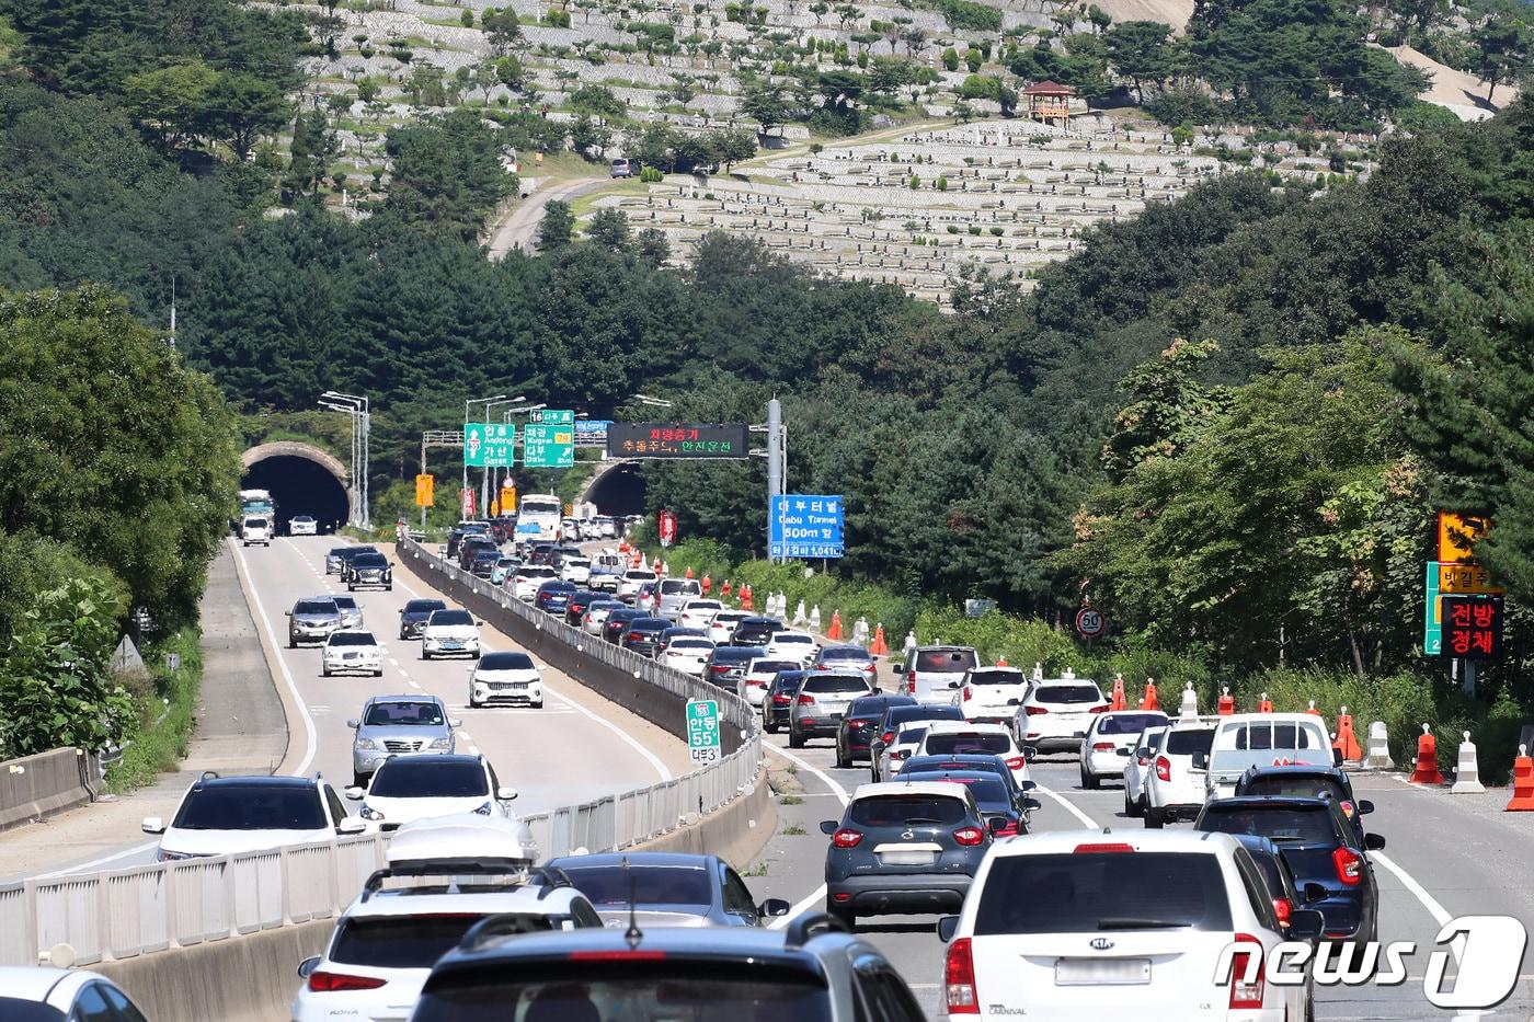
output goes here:
<path id="1" fill-rule="evenodd" d="M 390 865 L 341 913 L 324 954 L 299 965 L 295 1022 L 410 1017 L 433 964 L 486 916 L 508 931 L 600 927 L 584 895 L 531 869 L 534 849 L 522 847 L 517 830 L 495 818 L 446 816 L 394 832 Z M 414 838 L 440 859 L 400 859 L 397 846 L 414 853 Z"/>

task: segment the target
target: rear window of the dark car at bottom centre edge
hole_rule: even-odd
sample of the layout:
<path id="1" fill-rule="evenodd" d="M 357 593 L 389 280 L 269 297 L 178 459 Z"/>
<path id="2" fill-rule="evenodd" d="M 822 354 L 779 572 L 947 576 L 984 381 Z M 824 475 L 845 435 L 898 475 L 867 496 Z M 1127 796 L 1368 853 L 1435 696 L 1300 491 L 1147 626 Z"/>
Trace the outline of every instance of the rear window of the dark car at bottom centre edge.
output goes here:
<path id="1" fill-rule="evenodd" d="M 744 971 L 742 971 L 744 968 Z M 825 981 L 767 962 L 695 959 L 548 964 L 495 962 L 434 979 L 416 1022 L 831 1022 Z"/>

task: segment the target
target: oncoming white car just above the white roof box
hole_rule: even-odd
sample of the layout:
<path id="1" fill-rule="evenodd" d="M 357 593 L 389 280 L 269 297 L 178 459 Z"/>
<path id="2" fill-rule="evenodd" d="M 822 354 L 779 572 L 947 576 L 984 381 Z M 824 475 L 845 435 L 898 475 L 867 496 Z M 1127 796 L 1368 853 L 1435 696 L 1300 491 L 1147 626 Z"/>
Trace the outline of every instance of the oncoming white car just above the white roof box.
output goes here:
<path id="1" fill-rule="evenodd" d="M 517 792 L 495 780 L 483 755 L 411 752 L 385 760 L 367 790 L 348 787 L 347 798 L 362 803 L 357 815 L 370 827 L 388 833 L 433 816 L 509 816 Z"/>

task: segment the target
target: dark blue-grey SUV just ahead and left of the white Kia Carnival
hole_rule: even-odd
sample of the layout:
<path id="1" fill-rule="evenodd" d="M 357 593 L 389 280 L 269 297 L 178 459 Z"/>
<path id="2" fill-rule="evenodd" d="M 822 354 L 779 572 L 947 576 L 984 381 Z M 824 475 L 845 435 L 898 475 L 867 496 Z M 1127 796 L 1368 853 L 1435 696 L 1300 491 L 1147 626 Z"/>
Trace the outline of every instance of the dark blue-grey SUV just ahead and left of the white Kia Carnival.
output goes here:
<path id="1" fill-rule="evenodd" d="M 831 838 L 825 910 L 848 927 L 861 915 L 957 913 L 991 850 L 974 795 L 948 781 L 862 787 L 821 833 Z"/>

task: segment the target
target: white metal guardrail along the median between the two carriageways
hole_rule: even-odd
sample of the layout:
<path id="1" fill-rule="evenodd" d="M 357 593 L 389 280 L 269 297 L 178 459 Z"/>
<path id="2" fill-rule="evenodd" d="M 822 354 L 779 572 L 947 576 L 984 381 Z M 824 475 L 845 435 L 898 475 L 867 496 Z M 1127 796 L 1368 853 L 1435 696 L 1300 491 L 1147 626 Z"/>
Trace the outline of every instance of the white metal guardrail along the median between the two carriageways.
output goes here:
<path id="1" fill-rule="evenodd" d="M 423 560 L 433 562 L 434 571 L 551 631 L 581 654 L 675 695 L 678 718 L 683 701 L 715 698 L 721 720 L 741 729 L 735 752 L 684 776 L 522 816 L 545 858 L 577 849 L 611 852 L 658 838 L 692 823 L 693 813 L 713 812 L 759 783 L 759 721 L 741 697 L 571 628 L 442 562 L 419 543 L 400 543 L 399 552 L 420 566 Z M 35 965 L 57 944 L 69 944 L 77 962 L 91 965 L 331 918 L 385 864 L 385 846 L 382 835 L 362 835 L 0 884 L 0 965 Z"/>

